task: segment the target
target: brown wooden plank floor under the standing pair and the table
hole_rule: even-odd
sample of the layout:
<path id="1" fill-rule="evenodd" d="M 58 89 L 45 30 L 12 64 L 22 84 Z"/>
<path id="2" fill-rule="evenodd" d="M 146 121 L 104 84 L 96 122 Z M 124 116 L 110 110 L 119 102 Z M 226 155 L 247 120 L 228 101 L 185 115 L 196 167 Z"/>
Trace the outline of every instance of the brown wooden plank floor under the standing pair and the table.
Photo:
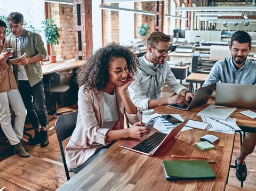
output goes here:
<path id="1" fill-rule="evenodd" d="M 63 107 L 77 110 L 77 106 Z M 0 190 L 55 190 L 64 184 L 66 180 L 65 171 L 62 164 L 58 140 L 55 134 L 55 120 L 49 123 L 49 140 L 50 145 L 41 148 L 39 145 L 25 145 L 30 157 L 23 159 L 18 155 L 13 155 L 11 146 L 0 146 Z M 25 139 L 27 137 L 25 136 Z M 0 138 L 0 144 L 3 139 Z M 64 145 L 67 141 L 64 142 Z M 240 150 L 239 136 L 237 134 L 233 153 L 233 163 L 236 155 Z M 246 164 L 249 175 L 244 182 L 244 188 L 249 190 L 256 189 L 256 150 L 247 156 Z M 70 173 L 73 176 L 72 173 Z M 230 169 L 229 185 L 240 186 L 236 179 L 235 169 Z"/>

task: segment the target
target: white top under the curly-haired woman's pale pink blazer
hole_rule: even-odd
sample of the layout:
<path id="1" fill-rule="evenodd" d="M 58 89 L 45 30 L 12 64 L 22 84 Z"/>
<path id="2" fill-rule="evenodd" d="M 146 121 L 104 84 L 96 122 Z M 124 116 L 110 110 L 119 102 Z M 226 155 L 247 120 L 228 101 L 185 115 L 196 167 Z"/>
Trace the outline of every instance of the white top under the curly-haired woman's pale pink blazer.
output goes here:
<path id="1" fill-rule="evenodd" d="M 106 92 L 104 94 L 104 121 L 102 128 L 111 129 L 119 121 L 119 112 L 116 101 L 116 93 L 110 95 Z"/>

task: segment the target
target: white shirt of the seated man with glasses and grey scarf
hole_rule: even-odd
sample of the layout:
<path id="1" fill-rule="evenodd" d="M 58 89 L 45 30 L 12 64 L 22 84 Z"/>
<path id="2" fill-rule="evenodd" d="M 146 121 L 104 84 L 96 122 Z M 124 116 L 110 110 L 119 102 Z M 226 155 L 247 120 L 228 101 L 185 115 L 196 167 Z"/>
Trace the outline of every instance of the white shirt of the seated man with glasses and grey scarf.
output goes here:
<path id="1" fill-rule="evenodd" d="M 158 65 L 154 67 L 154 63 L 149 62 L 145 55 L 142 57 L 143 61 L 148 65 L 149 68 L 155 69 L 159 67 Z M 137 107 L 140 107 L 141 110 L 148 110 L 148 88 L 150 84 L 150 75 L 143 72 L 137 67 L 137 73 L 135 73 L 134 81 L 128 87 L 131 100 Z M 165 83 L 172 89 L 176 94 L 179 94 L 182 89 L 187 89 L 186 87 L 182 86 L 177 79 L 175 78 L 174 74 L 171 71 L 171 68 L 165 61 L 163 63 L 163 68 L 160 70 L 163 75 L 163 79 Z M 158 86 L 156 89 L 157 98 L 162 97 L 162 89 L 163 86 Z"/>

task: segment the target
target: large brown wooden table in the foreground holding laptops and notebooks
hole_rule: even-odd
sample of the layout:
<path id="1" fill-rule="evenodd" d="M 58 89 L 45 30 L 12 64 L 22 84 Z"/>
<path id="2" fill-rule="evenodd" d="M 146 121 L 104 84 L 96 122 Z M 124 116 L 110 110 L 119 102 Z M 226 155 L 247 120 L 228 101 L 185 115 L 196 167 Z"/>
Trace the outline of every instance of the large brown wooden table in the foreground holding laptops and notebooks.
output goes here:
<path id="1" fill-rule="evenodd" d="M 201 111 L 207 105 L 204 104 L 190 111 L 159 106 L 154 112 L 179 113 L 183 118 L 186 118 L 191 113 Z M 194 119 L 199 120 L 201 118 L 196 116 Z M 238 122 L 246 123 L 240 116 Z M 214 143 L 214 150 L 201 151 L 194 145 L 200 141 L 200 137 L 206 134 L 220 138 Z M 121 148 L 119 144 L 122 143 L 122 140 L 118 140 L 105 153 L 67 181 L 59 190 L 225 190 L 234 138 L 234 134 L 191 129 L 181 132 L 178 138 L 172 140 L 154 156 Z M 167 181 L 163 175 L 162 160 L 181 160 L 181 158 L 171 157 L 171 154 L 211 157 L 210 161 L 217 162 L 211 164 L 216 179 Z"/>

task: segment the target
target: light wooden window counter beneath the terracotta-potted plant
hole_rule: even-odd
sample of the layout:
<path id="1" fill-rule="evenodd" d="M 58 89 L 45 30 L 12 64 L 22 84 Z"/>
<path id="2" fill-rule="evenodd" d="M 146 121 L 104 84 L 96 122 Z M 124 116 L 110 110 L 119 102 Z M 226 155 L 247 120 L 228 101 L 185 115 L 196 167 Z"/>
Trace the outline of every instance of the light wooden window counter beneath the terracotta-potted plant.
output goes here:
<path id="1" fill-rule="evenodd" d="M 56 63 L 49 63 L 44 62 L 42 67 L 43 75 L 54 73 L 54 72 L 60 72 L 63 70 L 69 70 L 73 68 L 81 67 L 85 63 L 84 60 L 75 60 L 75 61 L 60 61 Z"/>

